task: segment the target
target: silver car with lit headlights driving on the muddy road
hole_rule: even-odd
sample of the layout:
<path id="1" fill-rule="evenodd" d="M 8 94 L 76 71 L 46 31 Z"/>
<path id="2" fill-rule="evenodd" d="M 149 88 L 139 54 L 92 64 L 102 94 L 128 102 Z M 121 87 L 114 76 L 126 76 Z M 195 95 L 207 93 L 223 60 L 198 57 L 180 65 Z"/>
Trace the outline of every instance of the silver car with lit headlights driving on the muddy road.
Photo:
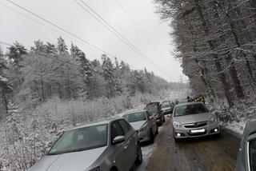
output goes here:
<path id="1" fill-rule="evenodd" d="M 188 102 L 175 105 L 172 127 L 174 140 L 185 137 L 202 137 L 220 134 L 217 118 L 202 102 Z"/>

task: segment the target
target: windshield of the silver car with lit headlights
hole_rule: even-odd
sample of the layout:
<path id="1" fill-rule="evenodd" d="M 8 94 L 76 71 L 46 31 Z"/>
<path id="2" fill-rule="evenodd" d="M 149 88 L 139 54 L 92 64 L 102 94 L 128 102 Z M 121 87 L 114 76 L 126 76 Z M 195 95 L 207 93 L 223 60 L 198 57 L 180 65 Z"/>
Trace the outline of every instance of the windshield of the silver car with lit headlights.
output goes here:
<path id="1" fill-rule="evenodd" d="M 202 104 L 181 105 L 175 107 L 174 117 L 198 113 L 209 113 L 209 110 L 206 109 L 206 106 Z"/>

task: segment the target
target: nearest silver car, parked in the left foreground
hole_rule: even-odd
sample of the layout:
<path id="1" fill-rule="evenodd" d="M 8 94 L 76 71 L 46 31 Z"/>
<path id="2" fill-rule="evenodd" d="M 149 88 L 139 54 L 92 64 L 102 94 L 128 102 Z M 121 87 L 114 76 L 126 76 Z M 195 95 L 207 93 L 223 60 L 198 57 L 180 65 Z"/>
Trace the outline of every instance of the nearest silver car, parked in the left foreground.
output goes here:
<path id="1" fill-rule="evenodd" d="M 134 128 L 123 118 L 96 121 L 65 131 L 30 171 L 129 171 L 142 163 Z"/>

